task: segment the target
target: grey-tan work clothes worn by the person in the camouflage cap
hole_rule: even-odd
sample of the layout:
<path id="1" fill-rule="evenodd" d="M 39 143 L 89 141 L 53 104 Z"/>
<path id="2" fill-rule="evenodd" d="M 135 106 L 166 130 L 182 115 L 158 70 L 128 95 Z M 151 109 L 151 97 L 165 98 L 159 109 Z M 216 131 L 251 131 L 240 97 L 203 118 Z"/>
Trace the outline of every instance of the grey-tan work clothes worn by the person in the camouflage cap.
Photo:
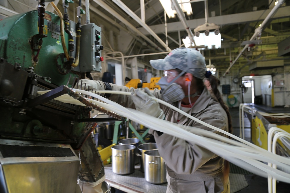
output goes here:
<path id="1" fill-rule="evenodd" d="M 102 83 L 102 82 L 101 82 Z M 133 92 L 134 88 L 110 84 L 112 90 Z M 102 84 L 102 87 L 104 84 Z M 152 93 L 161 98 L 160 90 L 155 89 Z M 126 95 L 112 94 L 111 99 L 122 106 L 135 108 L 134 103 Z M 177 106 L 177 102 L 172 103 Z M 164 111 L 165 120 L 177 123 L 178 114 L 171 108 L 160 104 Z M 203 122 L 228 131 L 228 117 L 219 102 L 214 100 L 211 94 L 204 89 L 193 107 L 188 112 Z M 193 126 L 214 133 L 219 133 L 207 126 L 183 116 L 179 124 Z M 188 130 L 188 129 L 187 129 Z M 190 143 L 184 139 L 169 134 L 158 135 L 151 130 L 160 155 L 166 163 L 168 188 L 167 193 L 176 192 L 229 192 L 229 177 L 224 175 L 224 159 L 218 157 L 207 148 Z M 224 136 L 224 134 L 219 133 Z"/>

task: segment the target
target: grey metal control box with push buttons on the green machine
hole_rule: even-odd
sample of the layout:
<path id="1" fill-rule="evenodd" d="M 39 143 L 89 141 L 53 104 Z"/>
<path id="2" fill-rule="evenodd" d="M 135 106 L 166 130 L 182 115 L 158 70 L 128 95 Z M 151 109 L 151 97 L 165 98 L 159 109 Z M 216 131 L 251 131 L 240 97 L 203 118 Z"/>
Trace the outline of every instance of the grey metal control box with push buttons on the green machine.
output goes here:
<path id="1" fill-rule="evenodd" d="M 101 72 L 101 62 L 104 60 L 101 51 L 101 27 L 94 23 L 81 26 L 80 43 L 80 71 L 81 72 Z"/>

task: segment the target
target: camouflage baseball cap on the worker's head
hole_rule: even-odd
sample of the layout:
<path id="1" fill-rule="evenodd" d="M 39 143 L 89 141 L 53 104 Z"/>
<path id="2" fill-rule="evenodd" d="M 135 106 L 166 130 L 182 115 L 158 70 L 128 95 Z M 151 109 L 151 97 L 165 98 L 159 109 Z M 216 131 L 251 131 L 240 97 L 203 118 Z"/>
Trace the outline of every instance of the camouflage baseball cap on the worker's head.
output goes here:
<path id="1" fill-rule="evenodd" d="M 188 59 L 190 62 L 188 63 Z M 192 48 L 176 48 L 164 59 L 150 60 L 151 66 L 157 70 L 180 69 L 191 73 L 196 78 L 203 79 L 206 73 L 205 60 L 202 54 Z"/>

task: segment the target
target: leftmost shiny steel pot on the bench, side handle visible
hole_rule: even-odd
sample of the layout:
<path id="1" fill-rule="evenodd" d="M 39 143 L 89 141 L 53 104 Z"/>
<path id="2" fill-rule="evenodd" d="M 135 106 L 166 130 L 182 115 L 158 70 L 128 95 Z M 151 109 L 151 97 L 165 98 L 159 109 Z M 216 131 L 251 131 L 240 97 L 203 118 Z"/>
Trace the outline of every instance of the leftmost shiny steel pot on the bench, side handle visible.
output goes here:
<path id="1" fill-rule="evenodd" d="M 115 174 L 125 175 L 134 172 L 133 145 L 115 145 L 112 149 L 112 170 Z"/>

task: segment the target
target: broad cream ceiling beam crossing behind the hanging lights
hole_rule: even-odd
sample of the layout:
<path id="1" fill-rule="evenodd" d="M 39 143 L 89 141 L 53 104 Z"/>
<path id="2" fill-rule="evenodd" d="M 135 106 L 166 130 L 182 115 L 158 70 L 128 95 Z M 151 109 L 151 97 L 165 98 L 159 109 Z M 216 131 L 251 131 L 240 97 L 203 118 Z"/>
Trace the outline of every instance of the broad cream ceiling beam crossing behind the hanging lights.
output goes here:
<path id="1" fill-rule="evenodd" d="M 273 16 L 272 19 L 285 18 L 290 16 L 289 12 L 290 6 L 282 7 L 279 11 Z M 237 14 L 229 14 L 222 16 L 209 17 L 208 23 L 215 23 L 217 25 L 233 25 L 238 23 L 246 23 L 246 22 L 255 22 L 255 21 L 263 21 L 267 15 L 271 12 L 271 10 L 260 10 L 254 12 L 246 12 L 246 13 L 237 13 Z M 191 29 L 202 25 L 205 23 L 205 19 L 192 19 L 187 21 Z M 164 24 L 151 25 L 149 26 L 156 34 L 161 34 L 164 32 Z M 147 30 L 143 27 L 137 28 L 144 35 L 150 35 Z M 185 30 L 184 26 L 180 21 L 167 23 L 167 32 L 177 32 L 178 30 Z"/>

